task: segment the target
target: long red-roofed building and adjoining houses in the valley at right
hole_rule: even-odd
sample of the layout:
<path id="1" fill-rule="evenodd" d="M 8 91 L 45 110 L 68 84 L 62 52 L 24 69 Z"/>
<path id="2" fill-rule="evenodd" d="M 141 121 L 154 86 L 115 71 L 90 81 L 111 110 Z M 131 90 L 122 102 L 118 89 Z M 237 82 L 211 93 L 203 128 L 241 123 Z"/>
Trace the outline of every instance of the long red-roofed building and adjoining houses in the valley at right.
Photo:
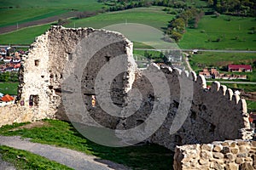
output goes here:
<path id="1" fill-rule="evenodd" d="M 251 65 L 228 65 L 229 72 L 252 72 Z M 206 78 L 212 79 L 227 79 L 227 80 L 234 80 L 234 79 L 247 79 L 246 75 L 236 75 L 236 74 L 226 74 L 226 73 L 219 73 L 216 68 L 204 68 L 203 71 L 199 72 L 200 75 Z"/>

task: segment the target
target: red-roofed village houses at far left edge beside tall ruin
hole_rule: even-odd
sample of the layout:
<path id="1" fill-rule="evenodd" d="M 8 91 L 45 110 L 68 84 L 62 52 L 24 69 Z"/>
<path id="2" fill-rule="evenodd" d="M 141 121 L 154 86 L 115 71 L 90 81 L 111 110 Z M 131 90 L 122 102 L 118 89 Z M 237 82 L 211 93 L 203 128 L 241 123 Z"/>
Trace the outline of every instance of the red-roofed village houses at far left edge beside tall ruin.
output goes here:
<path id="1" fill-rule="evenodd" d="M 6 71 L 19 71 L 21 55 L 25 54 L 25 51 L 15 51 L 9 54 L 9 48 L 0 49 L 0 72 Z"/>

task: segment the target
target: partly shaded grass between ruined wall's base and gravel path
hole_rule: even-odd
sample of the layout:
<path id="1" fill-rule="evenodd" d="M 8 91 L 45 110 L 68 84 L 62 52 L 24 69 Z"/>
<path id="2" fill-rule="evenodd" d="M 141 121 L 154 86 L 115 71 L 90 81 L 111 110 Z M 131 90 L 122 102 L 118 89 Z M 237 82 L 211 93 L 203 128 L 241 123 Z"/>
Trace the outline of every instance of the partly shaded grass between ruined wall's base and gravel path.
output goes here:
<path id="1" fill-rule="evenodd" d="M 133 169 L 172 169 L 173 153 L 162 146 L 156 144 L 124 148 L 102 146 L 85 139 L 68 122 L 57 120 L 45 120 L 45 122 L 48 122 L 49 125 L 16 131 L 9 130 L 24 125 L 24 123 L 15 123 L 15 126 L 7 125 L 0 128 L 0 134 L 20 135 L 24 138 L 31 138 L 32 142 L 55 144 L 72 150 L 79 150 L 105 160 L 124 164 Z"/>

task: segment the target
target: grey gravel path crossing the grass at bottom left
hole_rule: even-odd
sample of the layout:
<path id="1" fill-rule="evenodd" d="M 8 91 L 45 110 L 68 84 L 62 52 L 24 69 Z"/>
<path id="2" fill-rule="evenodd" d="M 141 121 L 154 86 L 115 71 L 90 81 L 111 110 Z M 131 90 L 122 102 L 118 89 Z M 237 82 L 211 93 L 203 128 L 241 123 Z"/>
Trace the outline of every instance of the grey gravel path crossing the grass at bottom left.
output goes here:
<path id="1" fill-rule="evenodd" d="M 18 136 L 0 136 L 0 145 L 6 145 L 18 150 L 27 150 L 76 170 L 130 169 L 113 161 L 102 160 L 96 156 L 88 156 L 79 151 L 49 144 L 32 143 L 29 139 L 20 139 Z M 0 167 L 0 169 L 3 168 Z"/>

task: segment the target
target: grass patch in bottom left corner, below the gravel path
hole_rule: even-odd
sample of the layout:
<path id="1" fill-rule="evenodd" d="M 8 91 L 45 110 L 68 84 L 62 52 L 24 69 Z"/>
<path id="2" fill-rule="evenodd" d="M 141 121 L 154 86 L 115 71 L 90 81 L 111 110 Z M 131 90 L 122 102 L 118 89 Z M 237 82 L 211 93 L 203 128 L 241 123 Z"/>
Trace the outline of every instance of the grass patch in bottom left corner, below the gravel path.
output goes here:
<path id="1" fill-rule="evenodd" d="M 31 152 L 25 150 L 15 150 L 3 145 L 0 145 L 0 155 L 3 161 L 10 162 L 18 169 L 72 169 L 55 161 L 49 161 L 42 156 L 34 155 Z"/>

